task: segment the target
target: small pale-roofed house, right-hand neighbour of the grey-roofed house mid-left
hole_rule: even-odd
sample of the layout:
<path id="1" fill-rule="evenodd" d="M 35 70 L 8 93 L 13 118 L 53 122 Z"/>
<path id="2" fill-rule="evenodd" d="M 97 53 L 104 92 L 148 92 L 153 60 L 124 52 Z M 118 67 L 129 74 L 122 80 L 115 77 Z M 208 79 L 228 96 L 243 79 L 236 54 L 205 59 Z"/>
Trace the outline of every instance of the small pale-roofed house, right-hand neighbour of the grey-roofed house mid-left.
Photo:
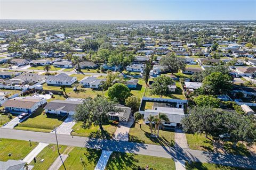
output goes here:
<path id="1" fill-rule="evenodd" d="M 101 86 L 102 81 L 106 81 L 106 79 L 97 79 L 97 77 L 90 76 L 84 77 L 82 80 L 79 81 L 79 83 L 86 88 L 98 89 Z"/>

